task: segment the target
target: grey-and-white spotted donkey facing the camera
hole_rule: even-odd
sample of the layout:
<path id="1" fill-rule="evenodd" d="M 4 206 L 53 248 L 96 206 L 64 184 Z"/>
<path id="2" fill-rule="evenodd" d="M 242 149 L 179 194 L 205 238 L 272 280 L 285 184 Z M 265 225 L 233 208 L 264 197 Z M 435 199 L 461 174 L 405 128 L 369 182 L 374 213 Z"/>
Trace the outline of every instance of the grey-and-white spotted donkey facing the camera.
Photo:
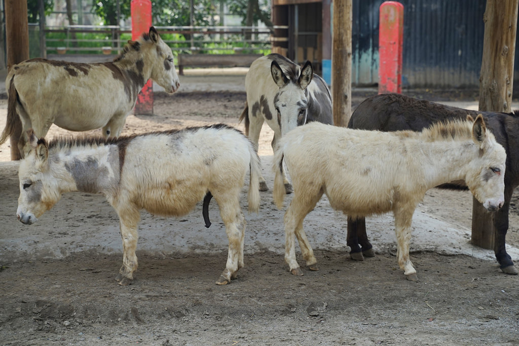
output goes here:
<path id="1" fill-rule="evenodd" d="M 256 150 L 264 121 L 274 130 L 272 149 L 282 135 L 297 126 L 311 121 L 333 124 L 330 90 L 313 74 L 309 61 L 301 68 L 280 54 L 258 58 L 245 76 L 245 91 L 247 103 L 240 121 L 245 119 L 245 134 Z M 286 193 L 292 192 L 284 171 L 283 181 Z M 260 190 L 268 190 L 263 176 Z"/>

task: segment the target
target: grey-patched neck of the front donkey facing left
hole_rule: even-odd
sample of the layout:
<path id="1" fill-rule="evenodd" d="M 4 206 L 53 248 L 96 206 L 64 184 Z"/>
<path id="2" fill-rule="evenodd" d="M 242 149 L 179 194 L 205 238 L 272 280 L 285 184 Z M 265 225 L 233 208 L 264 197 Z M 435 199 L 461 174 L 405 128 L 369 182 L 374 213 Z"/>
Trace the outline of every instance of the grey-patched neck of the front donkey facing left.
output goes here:
<path id="1" fill-rule="evenodd" d="M 119 151 L 116 145 L 62 150 L 52 160 L 53 166 L 57 168 L 54 174 L 62 174 L 63 180 L 70 183 L 63 186 L 66 191 L 106 195 L 119 184 Z"/>

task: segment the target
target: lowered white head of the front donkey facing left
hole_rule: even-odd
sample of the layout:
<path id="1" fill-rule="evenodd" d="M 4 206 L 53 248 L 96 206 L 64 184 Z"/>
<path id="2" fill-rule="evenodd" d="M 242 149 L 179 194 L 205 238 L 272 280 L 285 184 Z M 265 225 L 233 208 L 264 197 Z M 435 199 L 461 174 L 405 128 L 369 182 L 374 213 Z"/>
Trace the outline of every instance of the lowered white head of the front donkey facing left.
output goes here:
<path id="1" fill-rule="evenodd" d="M 50 173 L 49 149 L 45 140 L 38 140 L 32 129 L 28 136 L 31 149 L 20 161 L 20 197 L 16 214 L 23 224 L 31 225 L 59 201 L 61 193 L 60 182 Z"/>

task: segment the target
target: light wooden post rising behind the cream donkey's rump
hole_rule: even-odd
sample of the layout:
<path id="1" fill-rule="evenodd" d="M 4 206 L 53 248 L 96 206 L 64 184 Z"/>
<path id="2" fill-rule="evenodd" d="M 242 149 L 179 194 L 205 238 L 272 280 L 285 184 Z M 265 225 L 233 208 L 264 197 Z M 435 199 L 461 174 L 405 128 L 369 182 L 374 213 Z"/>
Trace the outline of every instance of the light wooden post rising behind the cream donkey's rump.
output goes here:
<path id="1" fill-rule="evenodd" d="M 352 0 L 333 2 L 332 100 L 336 126 L 348 126 L 351 116 Z"/>

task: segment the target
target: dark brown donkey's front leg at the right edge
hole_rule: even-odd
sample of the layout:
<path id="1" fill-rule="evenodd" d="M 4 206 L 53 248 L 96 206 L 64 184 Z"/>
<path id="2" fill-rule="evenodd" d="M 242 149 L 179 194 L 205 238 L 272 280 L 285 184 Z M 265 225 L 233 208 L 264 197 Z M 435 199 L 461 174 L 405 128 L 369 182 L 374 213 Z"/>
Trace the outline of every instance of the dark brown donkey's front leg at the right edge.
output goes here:
<path id="1" fill-rule="evenodd" d="M 510 191 L 509 191 L 510 190 Z M 512 257 L 507 253 L 506 249 L 506 236 L 508 231 L 508 213 L 510 209 L 510 200 L 512 198 L 513 189 L 506 189 L 504 191 L 504 204 L 494 214 L 494 229 L 495 229 L 495 241 L 494 241 L 494 252 L 496 259 L 499 262 L 499 268 L 503 273 L 517 275 L 517 269 L 514 266 Z"/>

